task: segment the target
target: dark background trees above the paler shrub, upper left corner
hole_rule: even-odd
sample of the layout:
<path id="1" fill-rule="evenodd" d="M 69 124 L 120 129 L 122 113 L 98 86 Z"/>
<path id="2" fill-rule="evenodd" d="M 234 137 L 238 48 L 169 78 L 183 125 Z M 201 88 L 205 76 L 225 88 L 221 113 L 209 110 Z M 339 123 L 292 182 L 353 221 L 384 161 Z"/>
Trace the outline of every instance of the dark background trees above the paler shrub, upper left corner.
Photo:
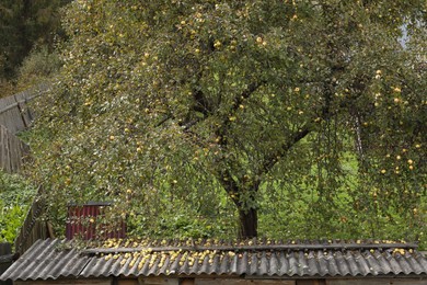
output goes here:
<path id="1" fill-rule="evenodd" d="M 33 50 L 54 50 L 64 36 L 59 9 L 69 0 L 4 0 L 0 3 L 0 95 L 14 92 L 20 67 Z M 43 54 L 43 52 L 41 52 Z M 49 59 L 51 60 L 51 59 Z M 34 61 L 34 60 L 33 60 Z"/>

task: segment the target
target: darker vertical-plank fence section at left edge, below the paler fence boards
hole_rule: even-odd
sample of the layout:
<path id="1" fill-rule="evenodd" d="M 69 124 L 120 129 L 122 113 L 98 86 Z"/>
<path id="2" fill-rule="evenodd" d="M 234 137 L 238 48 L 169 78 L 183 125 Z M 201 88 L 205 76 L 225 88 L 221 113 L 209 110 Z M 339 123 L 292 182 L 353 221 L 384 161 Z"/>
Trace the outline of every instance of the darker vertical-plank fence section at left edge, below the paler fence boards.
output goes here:
<path id="1" fill-rule="evenodd" d="M 18 173 L 28 155 L 28 146 L 9 129 L 0 125 L 0 168 L 8 173 Z"/>

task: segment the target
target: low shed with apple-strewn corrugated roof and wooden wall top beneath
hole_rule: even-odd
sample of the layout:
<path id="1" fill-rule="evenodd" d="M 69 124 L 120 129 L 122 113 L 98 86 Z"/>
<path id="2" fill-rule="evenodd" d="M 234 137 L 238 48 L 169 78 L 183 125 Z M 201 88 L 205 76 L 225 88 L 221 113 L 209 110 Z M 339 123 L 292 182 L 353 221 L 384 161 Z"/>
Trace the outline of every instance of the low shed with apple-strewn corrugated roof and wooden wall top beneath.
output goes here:
<path id="1" fill-rule="evenodd" d="M 427 284 L 416 244 L 386 241 L 38 240 L 0 280 L 16 285 Z"/>

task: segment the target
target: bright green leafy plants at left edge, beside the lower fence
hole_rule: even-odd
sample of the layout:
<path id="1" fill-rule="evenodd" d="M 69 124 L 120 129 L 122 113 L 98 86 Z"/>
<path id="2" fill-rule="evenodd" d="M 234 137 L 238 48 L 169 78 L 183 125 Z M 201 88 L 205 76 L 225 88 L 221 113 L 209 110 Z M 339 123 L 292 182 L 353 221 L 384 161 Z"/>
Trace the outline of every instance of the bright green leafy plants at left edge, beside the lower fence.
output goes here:
<path id="1" fill-rule="evenodd" d="M 0 242 L 13 242 L 36 193 L 25 179 L 0 171 Z"/>

